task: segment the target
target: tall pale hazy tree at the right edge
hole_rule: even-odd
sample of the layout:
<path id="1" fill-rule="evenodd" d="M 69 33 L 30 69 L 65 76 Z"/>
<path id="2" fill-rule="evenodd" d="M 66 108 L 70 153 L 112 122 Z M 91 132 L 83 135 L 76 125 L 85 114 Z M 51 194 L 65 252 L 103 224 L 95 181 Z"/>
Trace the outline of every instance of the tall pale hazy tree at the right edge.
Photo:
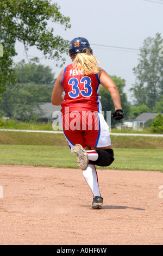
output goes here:
<path id="1" fill-rule="evenodd" d="M 140 48 L 139 64 L 133 69 L 136 82 L 130 90 L 135 106 L 147 105 L 150 111 L 153 111 L 160 95 L 163 95 L 163 58 L 159 54 L 162 42 L 159 33 L 155 38 L 145 39 Z"/>

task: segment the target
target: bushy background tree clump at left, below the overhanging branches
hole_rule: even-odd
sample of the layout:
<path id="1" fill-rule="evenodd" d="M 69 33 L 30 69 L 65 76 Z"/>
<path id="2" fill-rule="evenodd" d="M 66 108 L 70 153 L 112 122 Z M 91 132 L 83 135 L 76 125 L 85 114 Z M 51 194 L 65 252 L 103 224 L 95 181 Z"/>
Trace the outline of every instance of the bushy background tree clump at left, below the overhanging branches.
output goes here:
<path id="1" fill-rule="evenodd" d="M 0 117 L 36 119 L 36 113 L 41 113 L 41 103 L 51 101 L 54 74 L 49 66 L 39 64 L 37 58 L 27 64 L 24 60 L 16 64 L 15 74 L 20 83 L 7 86 L 0 101 Z M 41 85 L 36 84 L 39 81 Z"/>

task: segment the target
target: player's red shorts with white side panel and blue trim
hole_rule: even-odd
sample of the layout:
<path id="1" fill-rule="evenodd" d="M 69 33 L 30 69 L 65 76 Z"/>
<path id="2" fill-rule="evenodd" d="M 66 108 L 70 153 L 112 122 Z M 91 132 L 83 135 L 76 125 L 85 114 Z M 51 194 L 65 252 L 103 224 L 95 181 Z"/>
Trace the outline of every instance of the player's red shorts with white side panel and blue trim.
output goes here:
<path id="1" fill-rule="evenodd" d="M 91 148 L 107 147 L 111 144 L 109 127 L 101 113 L 73 111 L 63 114 L 61 120 L 62 129 L 71 151 L 75 144 L 80 144 L 83 148 L 86 146 Z"/>

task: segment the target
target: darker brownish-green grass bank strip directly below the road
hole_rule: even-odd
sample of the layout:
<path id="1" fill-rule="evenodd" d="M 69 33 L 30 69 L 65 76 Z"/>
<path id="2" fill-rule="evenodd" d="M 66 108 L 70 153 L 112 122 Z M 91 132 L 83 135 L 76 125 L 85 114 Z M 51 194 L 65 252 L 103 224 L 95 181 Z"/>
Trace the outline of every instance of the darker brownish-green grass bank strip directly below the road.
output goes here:
<path id="1" fill-rule="evenodd" d="M 163 149 L 163 137 L 114 136 L 112 148 Z M 0 144 L 3 145 L 48 145 L 67 146 L 61 133 L 0 131 Z"/>

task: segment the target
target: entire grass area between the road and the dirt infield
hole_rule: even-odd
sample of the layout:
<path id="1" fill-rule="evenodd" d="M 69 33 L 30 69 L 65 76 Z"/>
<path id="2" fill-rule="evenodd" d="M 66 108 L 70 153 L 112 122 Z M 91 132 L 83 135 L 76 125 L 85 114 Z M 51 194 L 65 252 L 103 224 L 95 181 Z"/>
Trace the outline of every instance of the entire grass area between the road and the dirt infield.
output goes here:
<path id="1" fill-rule="evenodd" d="M 163 172 L 163 137 L 110 137 L 115 154 L 110 169 Z M 61 133 L 0 131 L 0 153 L 0 164 L 78 168 Z"/>

